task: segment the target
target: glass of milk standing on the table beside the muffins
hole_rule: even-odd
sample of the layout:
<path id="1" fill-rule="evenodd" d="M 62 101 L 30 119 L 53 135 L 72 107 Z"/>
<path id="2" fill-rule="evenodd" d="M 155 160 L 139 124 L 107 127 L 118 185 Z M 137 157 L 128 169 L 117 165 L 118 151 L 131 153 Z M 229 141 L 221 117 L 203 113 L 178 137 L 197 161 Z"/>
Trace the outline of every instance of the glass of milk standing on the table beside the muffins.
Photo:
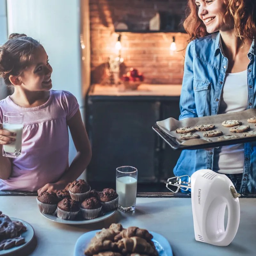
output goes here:
<path id="1" fill-rule="evenodd" d="M 132 166 L 116 168 L 116 193 L 119 195 L 118 210 L 131 212 L 135 210 L 138 170 Z"/>

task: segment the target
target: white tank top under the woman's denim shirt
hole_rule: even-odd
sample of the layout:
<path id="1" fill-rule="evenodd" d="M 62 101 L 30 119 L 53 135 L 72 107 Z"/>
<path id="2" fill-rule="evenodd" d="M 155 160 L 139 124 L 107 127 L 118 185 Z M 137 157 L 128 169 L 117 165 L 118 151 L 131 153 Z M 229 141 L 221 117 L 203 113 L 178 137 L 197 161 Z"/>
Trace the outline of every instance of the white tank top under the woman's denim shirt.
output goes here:
<path id="1" fill-rule="evenodd" d="M 238 73 L 227 73 L 218 114 L 246 110 L 247 103 L 247 70 Z M 215 148 L 213 170 L 225 174 L 243 173 L 244 144 Z"/>

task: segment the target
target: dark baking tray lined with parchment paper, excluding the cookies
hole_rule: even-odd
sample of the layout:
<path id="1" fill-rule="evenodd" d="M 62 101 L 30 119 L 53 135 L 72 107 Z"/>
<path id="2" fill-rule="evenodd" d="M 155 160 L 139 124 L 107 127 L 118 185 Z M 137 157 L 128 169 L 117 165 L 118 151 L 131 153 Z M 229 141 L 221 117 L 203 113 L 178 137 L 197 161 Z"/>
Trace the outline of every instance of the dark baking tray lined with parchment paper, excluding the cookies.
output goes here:
<path id="1" fill-rule="evenodd" d="M 251 130 L 256 131 L 256 126 L 254 123 L 248 123 L 247 119 L 256 116 L 256 109 L 247 109 L 239 112 L 232 112 L 228 114 L 220 114 L 215 116 L 203 116 L 203 117 L 189 117 L 181 121 L 178 121 L 172 117 L 165 119 L 163 121 L 156 122 L 157 126 L 153 129 L 157 132 L 173 149 L 198 149 L 198 148 L 214 148 L 225 145 L 239 144 L 250 141 L 255 141 L 256 136 L 244 137 L 242 133 L 230 132 L 230 127 L 222 126 L 222 122 L 226 120 L 239 120 L 242 125 L 249 125 Z M 229 140 L 218 140 L 218 137 L 204 137 L 204 132 L 193 132 L 200 136 L 199 139 L 191 140 L 180 140 L 180 133 L 176 133 L 177 128 L 181 127 L 195 127 L 199 124 L 214 124 L 215 128 L 213 130 L 223 132 L 223 135 L 238 135 L 239 138 L 229 139 Z M 221 135 L 221 136 L 223 136 Z M 212 141 L 207 141 L 207 140 Z"/>

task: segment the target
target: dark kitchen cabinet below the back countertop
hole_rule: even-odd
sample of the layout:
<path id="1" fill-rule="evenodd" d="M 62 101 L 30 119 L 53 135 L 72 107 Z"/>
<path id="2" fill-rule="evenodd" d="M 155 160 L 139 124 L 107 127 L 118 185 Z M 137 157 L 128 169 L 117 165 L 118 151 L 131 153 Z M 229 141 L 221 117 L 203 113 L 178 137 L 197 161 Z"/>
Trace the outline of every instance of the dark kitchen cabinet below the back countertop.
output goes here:
<path id="1" fill-rule="evenodd" d="M 88 182 L 94 188 L 115 187 L 116 167 L 131 165 L 138 169 L 138 191 L 140 186 L 145 192 L 157 186 L 166 191 L 162 182 L 173 176 L 180 152 L 165 145 L 152 126 L 168 117 L 179 118 L 179 97 L 89 94 L 86 106 L 92 146 Z"/>

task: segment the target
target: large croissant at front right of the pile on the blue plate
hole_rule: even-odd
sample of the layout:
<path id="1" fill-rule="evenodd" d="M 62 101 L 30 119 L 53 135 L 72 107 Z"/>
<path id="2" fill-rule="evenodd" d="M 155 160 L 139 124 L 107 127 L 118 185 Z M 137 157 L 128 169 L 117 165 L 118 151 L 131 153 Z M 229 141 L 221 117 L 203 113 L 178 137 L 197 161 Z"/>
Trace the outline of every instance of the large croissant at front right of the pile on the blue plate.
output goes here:
<path id="1" fill-rule="evenodd" d="M 123 254 L 136 252 L 150 256 L 158 256 L 157 251 L 145 239 L 137 236 L 119 240 L 117 247 Z"/>

